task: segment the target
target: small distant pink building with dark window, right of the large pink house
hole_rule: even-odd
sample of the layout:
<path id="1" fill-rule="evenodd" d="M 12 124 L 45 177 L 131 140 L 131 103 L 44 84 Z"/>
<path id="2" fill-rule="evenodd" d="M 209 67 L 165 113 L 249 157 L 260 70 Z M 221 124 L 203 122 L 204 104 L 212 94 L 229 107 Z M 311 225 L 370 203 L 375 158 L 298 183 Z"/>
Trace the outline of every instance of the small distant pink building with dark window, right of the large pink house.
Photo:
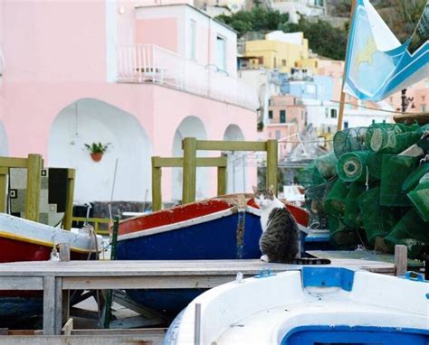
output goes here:
<path id="1" fill-rule="evenodd" d="M 306 126 L 305 107 L 300 98 L 291 95 L 273 96 L 268 108 L 269 124 L 264 128 L 267 139 L 283 139 L 279 143 L 280 157 L 290 154 L 293 145 L 288 141 L 296 141 L 294 135 Z"/>

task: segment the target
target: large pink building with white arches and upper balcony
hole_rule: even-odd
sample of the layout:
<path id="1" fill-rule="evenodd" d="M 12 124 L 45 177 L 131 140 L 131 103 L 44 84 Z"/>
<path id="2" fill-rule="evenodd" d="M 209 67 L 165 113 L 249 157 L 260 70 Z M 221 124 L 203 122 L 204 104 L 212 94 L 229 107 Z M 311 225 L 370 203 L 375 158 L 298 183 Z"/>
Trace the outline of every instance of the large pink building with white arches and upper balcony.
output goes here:
<path id="1" fill-rule="evenodd" d="M 142 201 L 150 156 L 181 156 L 182 138 L 254 140 L 258 99 L 235 79 L 236 33 L 165 4 L 0 2 L 0 155 L 76 168 L 76 200 L 114 190 L 113 200 Z M 100 163 L 84 149 L 92 142 L 111 143 Z M 234 178 L 250 191 L 255 169 Z M 165 200 L 180 199 L 181 179 L 163 171 Z M 215 180 L 198 169 L 197 197 L 214 195 Z"/>

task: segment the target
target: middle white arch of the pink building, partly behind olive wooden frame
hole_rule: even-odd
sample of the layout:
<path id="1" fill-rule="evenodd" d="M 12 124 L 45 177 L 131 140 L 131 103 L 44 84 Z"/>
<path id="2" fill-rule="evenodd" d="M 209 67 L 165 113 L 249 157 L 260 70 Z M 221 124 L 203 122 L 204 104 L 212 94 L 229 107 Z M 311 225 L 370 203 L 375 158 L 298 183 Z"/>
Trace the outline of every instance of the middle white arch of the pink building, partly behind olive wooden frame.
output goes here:
<path id="1" fill-rule="evenodd" d="M 183 157 L 182 140 L 186 137 L 195 137 L 199 140 L 207 139 L 207 132 L 203 121 L 199 117 L 185 117 L 179 126 L 177 126 L 173 140 L 173 156 Z M 197 156 L 204 157 L 207 153 L 204 151 L 197 152 Z M 173 200 L 182 200 L 183 190 L 183 169 L 173 169 L 172 198 Z M 196 168 L 196 191 L 197 200 L 205 199 L 209 196 L 209 178 L 207 168 Z"/>

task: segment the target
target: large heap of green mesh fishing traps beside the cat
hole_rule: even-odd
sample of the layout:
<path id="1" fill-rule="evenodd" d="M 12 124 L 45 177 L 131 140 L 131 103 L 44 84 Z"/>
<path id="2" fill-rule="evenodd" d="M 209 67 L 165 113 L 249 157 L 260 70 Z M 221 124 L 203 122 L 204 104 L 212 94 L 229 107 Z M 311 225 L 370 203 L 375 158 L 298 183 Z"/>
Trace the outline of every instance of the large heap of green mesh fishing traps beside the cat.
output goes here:
<path id="1" fill-rule="evenodd" d="M 301 172 L 306 206 L 335 247 L 405 244 L 418 257 L 429 245 L 428 130 L 382 123 L 338 131 L 333 153 Z M 412 145 L 419 156 L 406 155 Z"/>

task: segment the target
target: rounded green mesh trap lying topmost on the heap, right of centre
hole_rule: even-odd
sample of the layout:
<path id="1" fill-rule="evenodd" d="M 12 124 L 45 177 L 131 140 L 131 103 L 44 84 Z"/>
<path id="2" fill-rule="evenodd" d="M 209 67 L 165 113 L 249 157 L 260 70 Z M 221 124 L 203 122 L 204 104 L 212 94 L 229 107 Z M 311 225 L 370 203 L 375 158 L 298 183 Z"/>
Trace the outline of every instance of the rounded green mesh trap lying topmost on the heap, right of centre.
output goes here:
<path id="1" fill-rule="evenodd" d="M 367 128 L 367 149 L 386 154 L 399 154 L 415 144 L 422 136 L 418 125 L 373 124 Z"/>

